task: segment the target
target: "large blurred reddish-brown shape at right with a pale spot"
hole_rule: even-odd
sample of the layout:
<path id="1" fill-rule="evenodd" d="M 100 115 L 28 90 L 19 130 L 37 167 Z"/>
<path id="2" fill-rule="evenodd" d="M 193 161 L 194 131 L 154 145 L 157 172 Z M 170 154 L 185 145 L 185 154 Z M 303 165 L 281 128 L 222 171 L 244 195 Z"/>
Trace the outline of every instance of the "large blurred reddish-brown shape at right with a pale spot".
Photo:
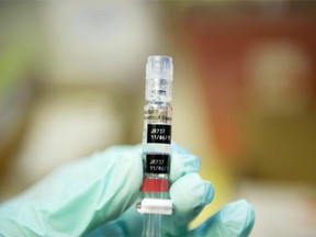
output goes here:
<path id="1" fill-rule="evenodd" d="M 315 2 L 199 2 L 181 11 L 222 161 L 253 178 L 316 184 Z"/>

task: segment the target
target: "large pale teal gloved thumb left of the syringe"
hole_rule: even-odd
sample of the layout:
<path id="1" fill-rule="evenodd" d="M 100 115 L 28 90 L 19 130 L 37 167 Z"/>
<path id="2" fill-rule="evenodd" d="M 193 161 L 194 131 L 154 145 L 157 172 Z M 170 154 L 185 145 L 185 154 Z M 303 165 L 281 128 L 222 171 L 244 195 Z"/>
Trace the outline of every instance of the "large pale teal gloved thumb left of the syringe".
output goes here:
<path id="1" fill-rule="evenodd" d="M 55 171 L 8 206 L 33 235 L 81 236 L 126 211 L 142 176 L 140 150 L 117 146 Z"/>

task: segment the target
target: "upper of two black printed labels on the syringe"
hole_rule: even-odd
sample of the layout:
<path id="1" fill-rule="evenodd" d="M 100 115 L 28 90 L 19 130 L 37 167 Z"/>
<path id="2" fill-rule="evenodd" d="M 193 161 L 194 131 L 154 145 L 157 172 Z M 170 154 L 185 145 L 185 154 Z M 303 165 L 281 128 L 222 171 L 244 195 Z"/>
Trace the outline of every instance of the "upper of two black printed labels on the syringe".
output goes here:
<path id="1" fill-rule="evenodd" d="M 171 125 L 148 124 L 147 143 L 171 144 Z"/>

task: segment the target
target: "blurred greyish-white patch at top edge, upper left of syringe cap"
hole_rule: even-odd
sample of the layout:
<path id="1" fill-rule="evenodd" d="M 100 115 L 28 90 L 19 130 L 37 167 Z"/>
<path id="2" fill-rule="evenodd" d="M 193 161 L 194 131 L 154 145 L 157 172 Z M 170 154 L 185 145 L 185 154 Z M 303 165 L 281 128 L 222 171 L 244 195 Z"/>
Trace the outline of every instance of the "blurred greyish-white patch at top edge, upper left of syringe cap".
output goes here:
<path id="1" fill-rule="evenodd" d="M 137 2 L 43 4 L 52 53 L 49 79 L 59 83 L 139 86 L 135 78 L 161 44 L 159 5 Z M 106 80 L 104 80 L 106 78 Z"/>

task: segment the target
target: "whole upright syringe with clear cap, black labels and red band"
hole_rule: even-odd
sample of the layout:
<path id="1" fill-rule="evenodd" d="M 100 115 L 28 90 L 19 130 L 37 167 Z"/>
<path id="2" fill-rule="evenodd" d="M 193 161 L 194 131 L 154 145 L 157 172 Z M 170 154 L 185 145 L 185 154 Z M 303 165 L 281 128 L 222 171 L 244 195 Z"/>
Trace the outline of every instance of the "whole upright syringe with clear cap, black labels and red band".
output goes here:
<path id="1" fill-rule="evenodd" d="M 159 237 L 161 214 L 172 214 L 169 199 L 172 122 L 172 58 L 149 56 L 146 65 L 144 106 L 143 200 L 137 205 L 144 215 L 143 237 Z"/>

